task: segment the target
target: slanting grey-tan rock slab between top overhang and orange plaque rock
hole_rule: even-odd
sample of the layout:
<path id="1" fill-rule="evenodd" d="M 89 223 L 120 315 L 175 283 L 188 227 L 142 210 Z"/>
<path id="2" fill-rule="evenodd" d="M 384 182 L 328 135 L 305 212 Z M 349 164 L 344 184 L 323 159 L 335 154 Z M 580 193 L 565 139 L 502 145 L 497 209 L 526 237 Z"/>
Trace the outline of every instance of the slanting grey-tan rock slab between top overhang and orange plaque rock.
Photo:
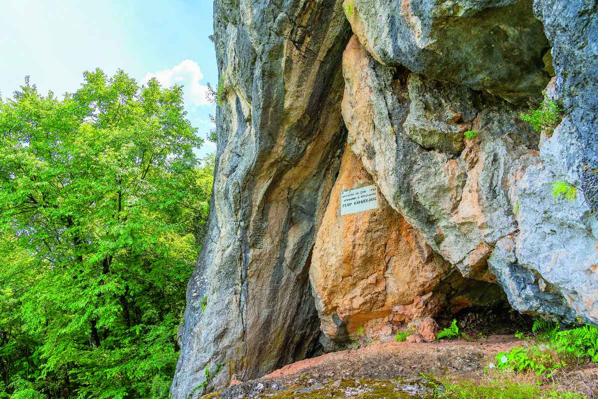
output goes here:
<path id="1" fill-rule="evenodd" d="M 518 121 L 521 109 L 487 93 L 380 65 L 356 36 L 344 51 L 343 65 L 343 117 L 353 152 L 390 206 L 435 251 L 464 276 L 483 276 L 478 269 L 493 244 L 517 229 L 505 179 L 537 154 L 538 135 Z M 428 89 L 410 90 L 413 85 Z M 453 117 L 452 125 L 446 118 L 443 123 L 475 129 L 477 138 L 463 144 L 458 157 L 423 148 L 406 131 L 413 120 L 422 119 L 419 110 L 412 115 L 414 102 L 446 104 L 444 109 L 463 116 Z M 434 116 L 426 121 L 438 124 Z M 438 136 L 432 132 L 431 137 Z M 436 147 L 443 147 L 443 141 Z"/>

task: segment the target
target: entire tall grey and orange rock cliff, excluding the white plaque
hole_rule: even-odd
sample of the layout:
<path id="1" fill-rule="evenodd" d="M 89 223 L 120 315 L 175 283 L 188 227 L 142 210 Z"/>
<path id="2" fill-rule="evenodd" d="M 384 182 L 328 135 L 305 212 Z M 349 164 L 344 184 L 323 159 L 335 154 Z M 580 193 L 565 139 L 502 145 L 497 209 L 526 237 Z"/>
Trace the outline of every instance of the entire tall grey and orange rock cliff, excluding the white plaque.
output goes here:
<path id="1" fill-rule="evenodd" d="M 216 173 L 174 398 L 501 300 L 598 324 L 597 8 L 215 0 Z M 520 118 L 543 90 L 554 132 Z M 365 185 L 378 207 L 341 215 Z"/>

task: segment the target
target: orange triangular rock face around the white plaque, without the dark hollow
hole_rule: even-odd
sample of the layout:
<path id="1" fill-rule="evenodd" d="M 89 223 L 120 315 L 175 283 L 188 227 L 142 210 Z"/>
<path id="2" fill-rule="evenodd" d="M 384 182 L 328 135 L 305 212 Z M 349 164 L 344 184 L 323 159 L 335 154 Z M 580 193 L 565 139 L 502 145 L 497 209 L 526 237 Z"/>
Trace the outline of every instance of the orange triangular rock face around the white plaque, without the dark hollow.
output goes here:
<path id="1" fill-rule="evenodd" d="M 431 293 L 450 269 L 383 196 L 377 209 L 341 216 L 341 191 L 371 184 L 347 147 L 310 268 L 322 331 L 333 342 L 345 342 L 363 327 L 370 339 L 388 338 L 393 307 Z"/>

